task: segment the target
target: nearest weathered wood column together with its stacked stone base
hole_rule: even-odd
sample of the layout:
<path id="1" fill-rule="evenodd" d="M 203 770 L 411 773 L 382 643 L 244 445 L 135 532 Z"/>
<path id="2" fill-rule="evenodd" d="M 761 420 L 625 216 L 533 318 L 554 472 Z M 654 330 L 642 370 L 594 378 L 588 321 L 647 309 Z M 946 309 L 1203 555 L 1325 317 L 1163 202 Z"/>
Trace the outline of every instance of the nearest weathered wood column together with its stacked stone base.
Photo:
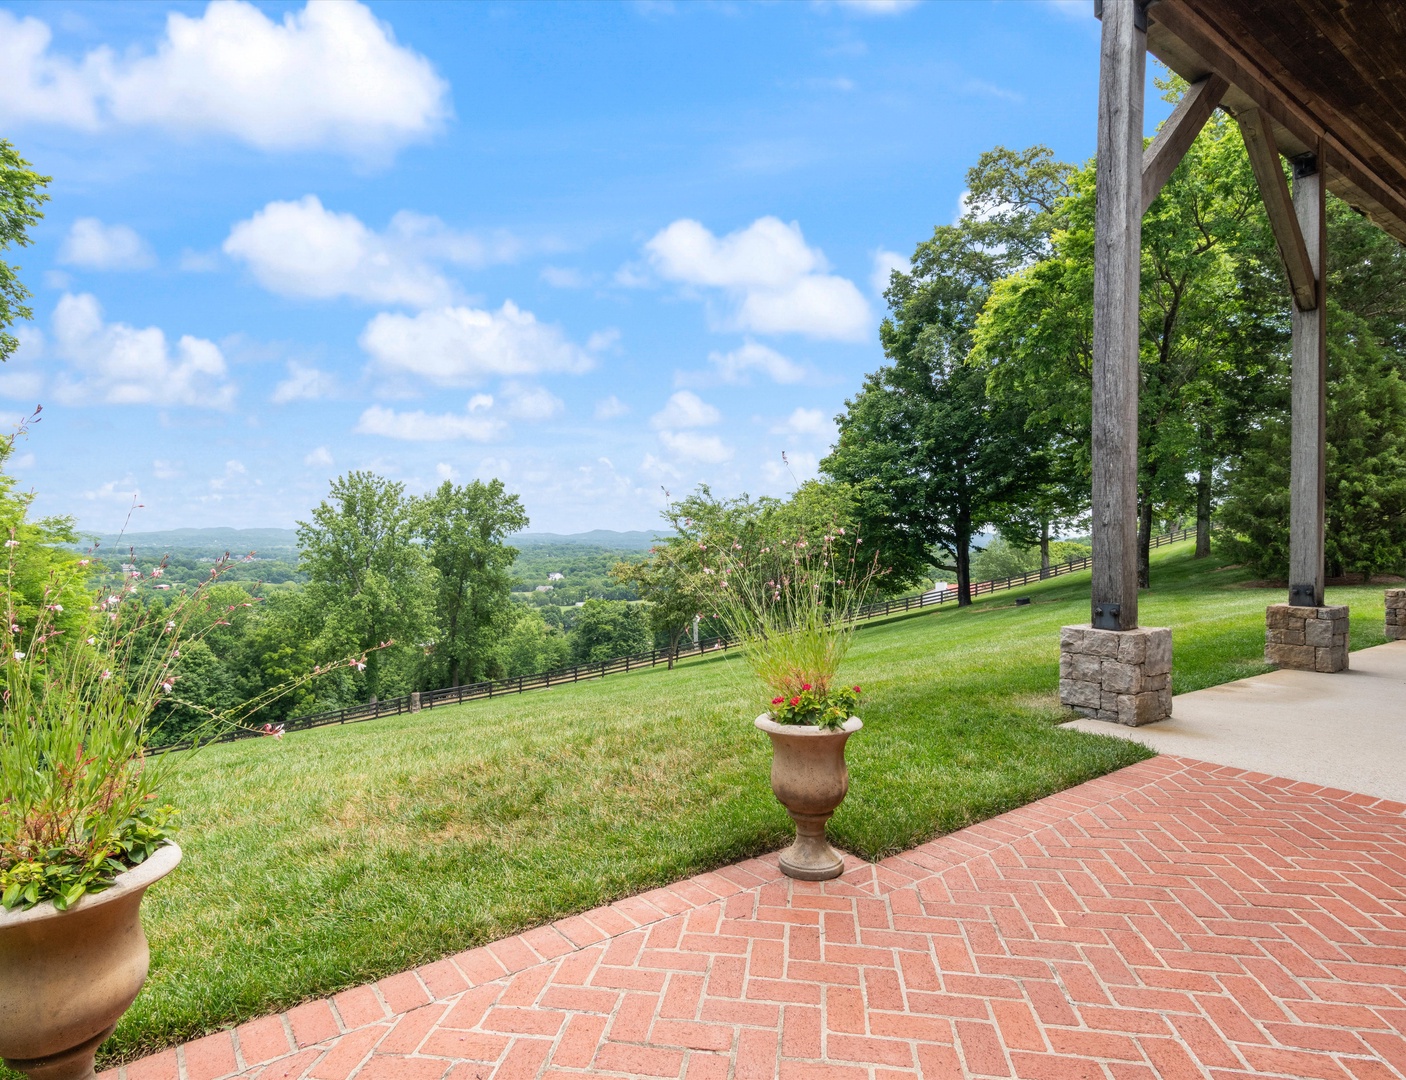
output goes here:
<path id="1" fill-rule="evenodd" d="M 1092 626 L 1060 629 L 1059 696 L 1084 716 L 1149 724 L 1171 714 L 1171 631 L 1137 626 L 1137 297 L 1147 24 L 1139 0 L 1104 0 L 1095 10 L 1101 10 L 1104 34 L 1094 218 Z M 1159 177 L 1164 180 L 1171 170 L 1163 167 L 1160 153 L 1153 162 L 1146 176 L 1156 195 Z"/>

